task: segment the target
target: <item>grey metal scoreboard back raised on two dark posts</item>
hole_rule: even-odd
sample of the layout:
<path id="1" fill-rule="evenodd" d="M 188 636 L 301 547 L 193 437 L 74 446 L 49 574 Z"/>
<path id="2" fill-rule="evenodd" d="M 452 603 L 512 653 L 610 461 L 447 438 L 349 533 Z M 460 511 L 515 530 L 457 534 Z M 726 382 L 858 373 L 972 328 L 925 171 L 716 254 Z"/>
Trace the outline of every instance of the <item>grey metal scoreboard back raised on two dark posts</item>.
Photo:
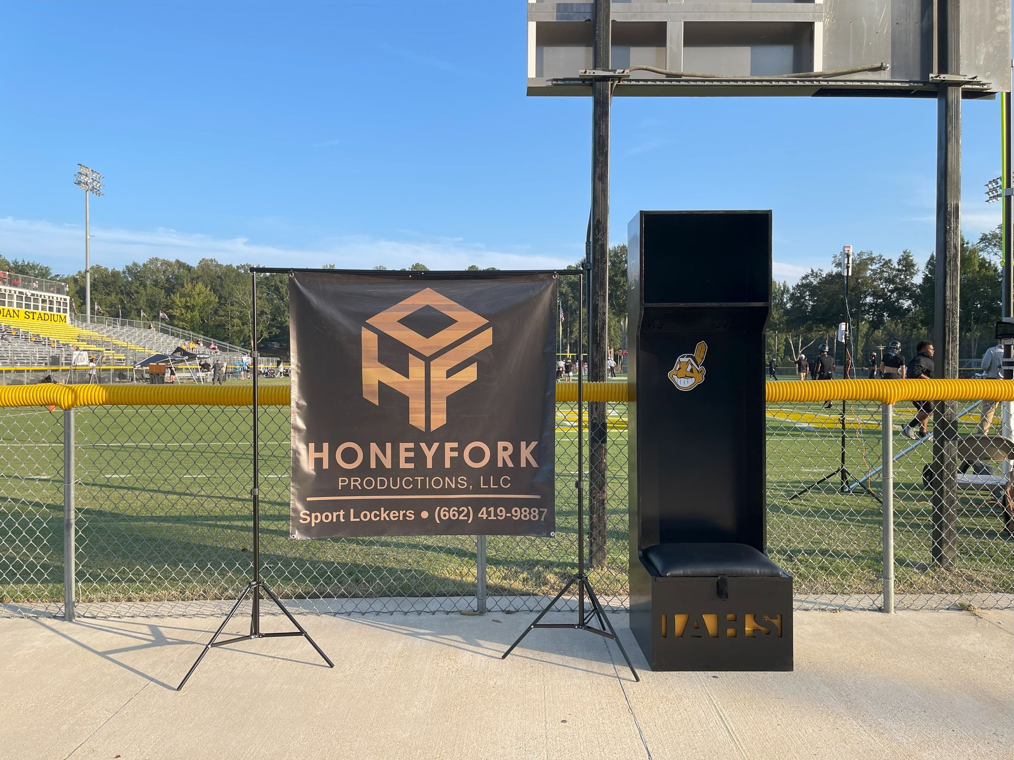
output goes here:
<path id="1" fill-rule="evenodd" d="M 940 0 L 640 0 L 611 5 L 611 68 L 651 66 L 619 80 L 615 95 L 935 96 Z M 590 95 L 590 2 L 528 2 L 529 95 Z M 1011 88 L 1011 4 L 962 0 L 960 57 L 966 98 Z M 832 80 L 786 75 L 887 64 Z M 709 76 L 710 75 L 710 76 Z M 747 81 L 736 77 L 756 77 Z M 776 77 L 776 78 L 771 78 Z M 731 79 L 730 79 L 731 78 Z"/>

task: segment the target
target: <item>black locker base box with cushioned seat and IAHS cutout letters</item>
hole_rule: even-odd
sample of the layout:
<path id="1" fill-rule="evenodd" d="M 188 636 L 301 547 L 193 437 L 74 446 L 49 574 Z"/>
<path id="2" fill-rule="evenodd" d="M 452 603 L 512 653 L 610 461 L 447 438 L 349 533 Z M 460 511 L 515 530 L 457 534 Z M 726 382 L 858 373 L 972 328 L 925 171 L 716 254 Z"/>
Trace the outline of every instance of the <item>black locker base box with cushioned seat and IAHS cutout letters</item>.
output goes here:
<path id="1" fill-rule="evenodd" d="M 654 671 L 791 671 L 792 577 L 751 546 L 631 557 L 631 631 Z"/>

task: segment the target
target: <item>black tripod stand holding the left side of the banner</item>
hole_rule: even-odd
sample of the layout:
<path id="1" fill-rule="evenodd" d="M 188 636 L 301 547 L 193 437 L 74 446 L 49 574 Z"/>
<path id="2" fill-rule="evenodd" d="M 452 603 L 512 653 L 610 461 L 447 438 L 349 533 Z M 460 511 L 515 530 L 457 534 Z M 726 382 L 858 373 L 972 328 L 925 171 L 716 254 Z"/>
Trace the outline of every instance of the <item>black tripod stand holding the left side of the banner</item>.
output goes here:
<path id="1" fill-rule="evenodd" d="M 208 651 L 214 647 L 224 647 L 229 643 L 236 643 L 237 641 L 247 641 L 255 638 L 277 638 L 279 636 L 303 636 L 310 645 L 316 650 L 316 653 L 328 663 L 329 668 L 334 668 L 335 664 L 328 659 L 328 656 L 323 654 L 323 651 L 317 647 L 316 641 L 310 638 L 310 634 L 306 632 L 302 625 L 292 616 L 292 614 L 285 609 L 285 605 L 275 596 L 268 584 L 261 579 L 261 495 L 260 495 L 260 482 L 261 474 L 259 469 L 259 458 L 261 450 L 260 441 L 260 428 L 259 428 L 259 417 L 260 409 L 258 407 L 258 357 L 260 352 L 257 350 L 258 335 L 257 335 L 257 274 L 250 273 L 251 280 L 251 305 L 250 305 L 250 326 L 251 326 L 251 341 L 254 344 L 252 349 L 252 359 L 254 359 L 254 487 L 250 488 L 250 498 L 254 504 L 254 578 L 247 582 L 246 588 L 242 590 L 239 594 L 239 598 L 236 603 L 232 605 L 232 609 L 229 610 L 229 614 L 225 616 L 222 624 L 218 626 L 218 630 L 215 631 L 215 635 L 211 637 L 211 640 L 204 645 L 201 654 L 198 655 L 197 661 L 191 666 L 191 669 L 187 671 L 187 675 L 184 676 L 184 680 L 179 682 L 176 687 L 176 691 L 183 689 L 184 684 L 187 680 L 194 674 L 197 670 L 197 666 L 201 664 L 204 656 L 208 654 Z M 261 592 L 267 594 L 271 601 L 289 618 L 289 622 L 296 626 L 296 630 L 286 630 L 280 632 L 264 633 L 261 631 Z M 244 636 L 233 636 L 232 638 L 223 638 L 218 640 L 218 637 L 225 630 L 225 626 L 228 625 L 229 620 L 232 616 L 236 614 L 236 610 L 239 609 L 239 605 L 242 604 L 243 599 L 247 595 L 250 595 L 250 632 Z"/>

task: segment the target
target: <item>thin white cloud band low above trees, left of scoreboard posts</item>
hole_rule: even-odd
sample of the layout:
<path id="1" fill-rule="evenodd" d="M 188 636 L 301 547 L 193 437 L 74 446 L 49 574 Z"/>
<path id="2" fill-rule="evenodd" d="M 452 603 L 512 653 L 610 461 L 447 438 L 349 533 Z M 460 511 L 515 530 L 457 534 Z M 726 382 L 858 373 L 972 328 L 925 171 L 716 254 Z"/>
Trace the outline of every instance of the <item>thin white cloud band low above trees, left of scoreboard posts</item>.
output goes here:
<path id="1" fill-rule="evenodd" d="M 152 256 L 179 258 L 190 263 L 210 257 L 222 263 L 265 267 L 333 263 L 339 269 L 369 269 L 377 264 L 402 269 L 420 261 L 432 270 L 462 270 L 469 264 L 502 270 L 545 270 L 573 263 L 566 251 L 529 253 L 526 246 L 517 246 L 517 250 L 493 250 L 453 236 L 387 240 L 369 235 L 344 235 L 324 238 L 305 247 L 287 247 L 257 243 L 245 237 L 219 238 L 161 228 L 139 231 L 92 226 L 91 232 L 94 235 L 91 261 L 108 268 L 145 261 Z M 8 258 L 40 261 L 60 274 L 82 269 L 82 238 L 83 230 L 79 226 L 0 218 L 0 253 Z"/>

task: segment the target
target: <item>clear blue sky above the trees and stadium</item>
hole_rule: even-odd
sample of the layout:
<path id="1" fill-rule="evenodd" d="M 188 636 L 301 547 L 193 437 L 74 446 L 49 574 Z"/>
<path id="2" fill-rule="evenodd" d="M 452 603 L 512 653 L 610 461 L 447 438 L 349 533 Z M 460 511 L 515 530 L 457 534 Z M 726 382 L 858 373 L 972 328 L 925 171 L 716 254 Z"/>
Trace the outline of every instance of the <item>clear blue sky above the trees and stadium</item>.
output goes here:
<path id="1" fill-rule="evenodd" d="M 462 20 L 457 20 L 462 19 Z M 503 269 L 583 254 L 588 98 L 525 96 L 525 3 L 6 3 L 0 253 Z M 999 222 L 999 101 L 964 106 L 962 227 Z M 776 275 L 933 249 L 936 103 L 617 98 L 610 240 L 639 209 L 773 209 Z"/>

